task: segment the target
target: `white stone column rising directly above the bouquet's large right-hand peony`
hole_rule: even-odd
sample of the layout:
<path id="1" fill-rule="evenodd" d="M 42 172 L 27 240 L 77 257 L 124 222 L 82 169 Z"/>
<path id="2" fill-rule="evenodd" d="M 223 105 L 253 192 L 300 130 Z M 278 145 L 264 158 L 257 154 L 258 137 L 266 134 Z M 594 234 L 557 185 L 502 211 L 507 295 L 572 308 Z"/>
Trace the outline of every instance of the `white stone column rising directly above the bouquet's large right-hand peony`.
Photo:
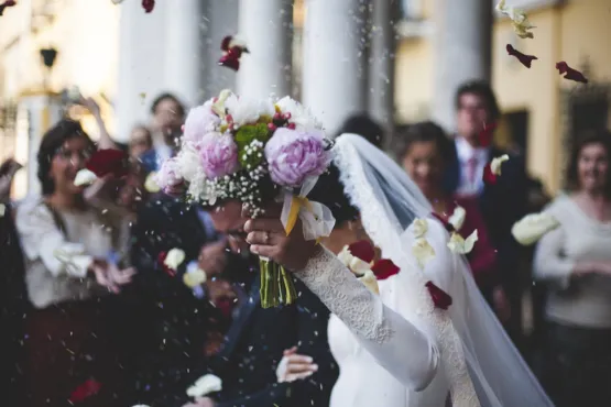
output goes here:
<path id="1" fill-rule="evenodd" d="M 305 0 L 303 102 L 335 135 L 367 109 L 367 8 L 359 0 Z"/>

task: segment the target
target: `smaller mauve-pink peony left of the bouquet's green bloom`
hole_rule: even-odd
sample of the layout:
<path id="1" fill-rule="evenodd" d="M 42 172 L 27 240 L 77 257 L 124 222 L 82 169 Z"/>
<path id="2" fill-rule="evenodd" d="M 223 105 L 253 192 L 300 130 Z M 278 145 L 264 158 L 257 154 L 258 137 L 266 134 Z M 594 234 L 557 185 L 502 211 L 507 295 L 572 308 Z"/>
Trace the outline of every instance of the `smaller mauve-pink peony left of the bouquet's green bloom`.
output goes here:
<path id="1" fill-rule="evenodd" d="M 238 167 L 238 145 L 231 134 L 207 133 L 197 144 L 206 177 L 220 178 L 234 173 Z"/>

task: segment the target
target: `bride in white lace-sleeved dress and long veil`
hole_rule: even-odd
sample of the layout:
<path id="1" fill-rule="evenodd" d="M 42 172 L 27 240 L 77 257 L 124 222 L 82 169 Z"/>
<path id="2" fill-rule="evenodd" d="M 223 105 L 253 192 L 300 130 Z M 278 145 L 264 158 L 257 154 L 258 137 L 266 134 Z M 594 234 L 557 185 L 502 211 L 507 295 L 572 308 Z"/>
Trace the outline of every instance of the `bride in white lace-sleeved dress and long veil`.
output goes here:
<path id="1" fill-rule="evenodd" d="M 336 170 L 309 198 L 334 212 L 354 208 L 368 238 L 400 267 L 379 282 L 379 295 L 329 250 L 299 231 L 286 237 L 277 218 L 244 228 L 254 253 L 294 271 L 332 312 L 328 337 L 340 375 L 331 407 L 444 407 L 448 399 L 454 407 L 553 406 L 407 175 L 358 135 L 341 135 L 334 150 Z M 336 237 L 350 234 L 341 227 Z M 430 254 L 424 264 L 413 254 L 418 249 Z M 447 310 L 436 308 L 427 282 L 451 297 Z M 279 380 L 307 380 L 314 369 L 305 361 L 295 349 L 285 352 Z"/>

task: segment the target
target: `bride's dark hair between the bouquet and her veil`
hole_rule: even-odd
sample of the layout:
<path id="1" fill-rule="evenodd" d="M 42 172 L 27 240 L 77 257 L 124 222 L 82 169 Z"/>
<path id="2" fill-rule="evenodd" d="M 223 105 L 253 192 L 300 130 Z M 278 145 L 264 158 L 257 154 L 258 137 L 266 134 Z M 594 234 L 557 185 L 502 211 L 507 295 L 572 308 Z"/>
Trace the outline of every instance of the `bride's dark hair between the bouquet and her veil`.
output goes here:
<path id="1" fill-rule="evenodd" d="M 320 202 L 331 210 L 336 219 L 336 227 L 357 220 L 360 216 L 359 210 L 350 204 L 350 199 L 346 196 L 339 175 L 339 168 L 331 164 L 329 169 L 318 178 L 316 186 L 307 196 L 309 200 Z"/>

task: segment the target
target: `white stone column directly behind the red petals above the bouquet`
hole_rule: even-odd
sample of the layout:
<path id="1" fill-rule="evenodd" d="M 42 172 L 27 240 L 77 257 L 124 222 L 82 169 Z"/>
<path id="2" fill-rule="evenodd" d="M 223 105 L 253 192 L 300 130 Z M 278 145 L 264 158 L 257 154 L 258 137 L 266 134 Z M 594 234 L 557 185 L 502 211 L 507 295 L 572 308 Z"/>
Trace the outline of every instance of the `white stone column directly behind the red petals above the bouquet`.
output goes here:
<path id="1" fill-rule="evenodd" d="M 238 92 L 250 98 L 291 92 L 292 0 L 241 0 L 240 36 L 249 54 L 241 58 Z"/>

